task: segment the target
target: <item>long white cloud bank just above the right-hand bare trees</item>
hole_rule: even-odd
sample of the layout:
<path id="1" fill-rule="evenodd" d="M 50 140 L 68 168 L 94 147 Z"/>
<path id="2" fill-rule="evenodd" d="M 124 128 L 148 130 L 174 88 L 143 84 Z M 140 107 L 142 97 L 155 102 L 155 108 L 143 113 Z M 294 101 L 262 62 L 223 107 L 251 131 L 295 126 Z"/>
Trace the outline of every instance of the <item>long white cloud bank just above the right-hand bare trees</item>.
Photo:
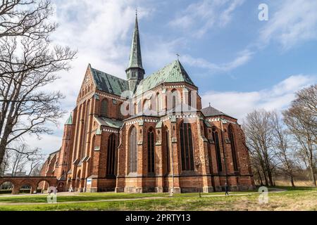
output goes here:
<path id="1" fill-rule="evenodd" d="M 294 94 L 317 81 L 317 76 L 293 75 L 271 89 L 250 92 L 209 91 L 201 96 L 203 107 L 211 105 L 240 122 L 254 109 L 283 110 L 294 100 Z"/>

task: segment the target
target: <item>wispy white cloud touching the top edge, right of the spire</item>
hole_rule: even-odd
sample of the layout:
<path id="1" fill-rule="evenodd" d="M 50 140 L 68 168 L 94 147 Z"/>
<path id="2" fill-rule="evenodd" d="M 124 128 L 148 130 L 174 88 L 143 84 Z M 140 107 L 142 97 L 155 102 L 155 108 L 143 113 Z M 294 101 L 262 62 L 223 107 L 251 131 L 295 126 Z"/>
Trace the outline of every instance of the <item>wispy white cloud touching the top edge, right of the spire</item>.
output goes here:
<path id="1" fill-rule="evenodd" d="M 170 25 L 194 37 L 202 37 L 211 27 L 230 23 L 233 12 L 243 3 L 244 0 L 201 0 L 187 6 Z"/>

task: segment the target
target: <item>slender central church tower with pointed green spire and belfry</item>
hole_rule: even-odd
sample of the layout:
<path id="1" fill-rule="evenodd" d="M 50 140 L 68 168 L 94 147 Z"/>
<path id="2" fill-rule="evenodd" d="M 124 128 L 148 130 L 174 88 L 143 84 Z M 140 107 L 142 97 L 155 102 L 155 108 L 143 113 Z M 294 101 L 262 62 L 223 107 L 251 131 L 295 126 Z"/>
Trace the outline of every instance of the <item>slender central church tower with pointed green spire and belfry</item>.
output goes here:
<path id="1" fill-rule="evenodd" d="M 139 82 L 144 79 L 144 69 L 142 66 L 141 44 L 139 41 L 139 25 L 137 14 L 135 15 L 135 31 L 133 32 L 132 46 L 128 69 L 125 70 L 129 83 L 129 90 L 133 93 L 137 89 Z"/>

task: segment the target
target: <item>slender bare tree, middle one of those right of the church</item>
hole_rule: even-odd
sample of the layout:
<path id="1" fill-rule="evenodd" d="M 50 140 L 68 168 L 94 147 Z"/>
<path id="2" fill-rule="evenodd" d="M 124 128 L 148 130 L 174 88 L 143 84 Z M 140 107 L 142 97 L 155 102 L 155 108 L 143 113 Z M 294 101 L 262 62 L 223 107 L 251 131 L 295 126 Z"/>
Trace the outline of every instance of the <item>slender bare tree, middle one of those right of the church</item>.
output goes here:
<path id="1" fill-rule="evenodd" d="M 282 124 L 278 113 L 272 113 L 273 119 L 273 132 L 275 138 L 273 139 L 273 145 L 276 150 L 276 157 L 278 158 L 278 169 L 282 171 L 283 174 L 290 177 L 290 182 L 292 187 L 294 184 L 294 169 L 296 167 L 296 163 L 294 159 L 294 149 L 291 149 L 292 141 L 290 139 L 289 132 L 285 129 L 285 125 Z"/>

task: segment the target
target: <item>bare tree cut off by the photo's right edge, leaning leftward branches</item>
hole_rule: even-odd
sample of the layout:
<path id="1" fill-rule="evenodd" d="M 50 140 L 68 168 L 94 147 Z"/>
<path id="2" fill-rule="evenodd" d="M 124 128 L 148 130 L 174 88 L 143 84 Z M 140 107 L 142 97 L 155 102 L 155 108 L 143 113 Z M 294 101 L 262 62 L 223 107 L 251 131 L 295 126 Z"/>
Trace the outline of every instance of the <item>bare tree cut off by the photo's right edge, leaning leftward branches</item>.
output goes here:
<path id="1" fill-rule="evenodd" d="M 303 89 L 291 107 L 283 112 L 285 124 L 297 141 L 299 153 L 309 169 L 313 186 L 316 186 L 316 135 L 317 135 L 317 85 Z"/>

